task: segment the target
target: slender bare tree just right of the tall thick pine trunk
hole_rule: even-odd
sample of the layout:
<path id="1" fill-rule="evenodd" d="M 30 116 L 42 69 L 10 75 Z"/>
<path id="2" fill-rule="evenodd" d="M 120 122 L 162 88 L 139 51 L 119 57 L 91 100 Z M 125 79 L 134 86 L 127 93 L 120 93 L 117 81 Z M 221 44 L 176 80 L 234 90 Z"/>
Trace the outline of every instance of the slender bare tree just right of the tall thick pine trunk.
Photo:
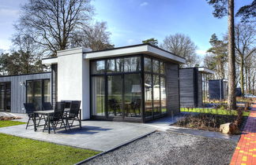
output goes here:
<path id="1" fill-rule="evenodd" d="M 256 51 L 255 29 L 252 24 L 237 24 L 235 26 L 236 61 L 240 68 L 240 86 L 244 94 L 244 64 L 248 57 Z"/>

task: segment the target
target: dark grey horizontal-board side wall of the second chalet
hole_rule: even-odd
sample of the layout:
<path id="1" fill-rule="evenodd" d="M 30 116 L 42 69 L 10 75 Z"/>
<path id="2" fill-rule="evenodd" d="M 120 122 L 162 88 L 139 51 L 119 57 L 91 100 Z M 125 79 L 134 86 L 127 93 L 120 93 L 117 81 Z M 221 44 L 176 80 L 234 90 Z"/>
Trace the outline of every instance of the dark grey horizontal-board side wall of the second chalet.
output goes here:
<path id="1" fill-rule="evenodd" d="M 194 68 L 179 70 L 180 106 L 194 107 Z"/>

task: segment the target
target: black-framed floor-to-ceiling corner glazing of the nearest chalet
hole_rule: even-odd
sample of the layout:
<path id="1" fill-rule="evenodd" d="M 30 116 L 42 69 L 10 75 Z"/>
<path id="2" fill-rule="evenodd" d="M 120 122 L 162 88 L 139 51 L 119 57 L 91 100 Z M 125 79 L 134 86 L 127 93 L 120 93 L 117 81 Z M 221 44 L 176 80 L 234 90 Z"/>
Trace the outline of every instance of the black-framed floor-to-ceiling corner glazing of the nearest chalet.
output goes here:
<path id="1" fill-rule="evenodd" d="M 139 121 L 142 115 L 149 120 L 167 112 L 164 61 L 117 57 L 92 61 L 91 67 L 93 117 Z"/>

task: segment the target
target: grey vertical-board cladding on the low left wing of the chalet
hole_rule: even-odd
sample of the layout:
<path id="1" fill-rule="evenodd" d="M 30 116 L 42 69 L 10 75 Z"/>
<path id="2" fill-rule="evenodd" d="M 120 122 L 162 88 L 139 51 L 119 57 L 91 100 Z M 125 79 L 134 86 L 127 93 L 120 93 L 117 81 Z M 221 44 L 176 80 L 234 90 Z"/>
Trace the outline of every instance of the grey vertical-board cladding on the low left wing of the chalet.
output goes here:
<path id="1" fill-rule="evenodd" d="M 26 87 L 21 86 L 21 82 L 26 83 L 27 80 L 32 79 L 50 79 L 51 72 L 32 74 L 32 75 L 13 75 L 13 76 L 0 76 L 0 82 L 11 83 L 11 112 L 24 113 L 24 105 L 26 102 Z"/>

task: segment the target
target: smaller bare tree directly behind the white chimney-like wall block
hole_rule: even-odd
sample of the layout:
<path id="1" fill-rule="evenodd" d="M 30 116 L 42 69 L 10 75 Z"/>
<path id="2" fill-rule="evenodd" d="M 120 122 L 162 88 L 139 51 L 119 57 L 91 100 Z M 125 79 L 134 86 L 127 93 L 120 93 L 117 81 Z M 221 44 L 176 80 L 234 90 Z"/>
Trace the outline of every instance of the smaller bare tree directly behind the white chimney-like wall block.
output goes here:
<path id="1" fill-rule="evenodd" d="M 114 48 L 110 42 L 111 32 L 107 31 L 106 22 L 96 22 L 77 31 L 72 38 L 72 46 L 84 46 L 92 50 L 102 50 Z"/>

